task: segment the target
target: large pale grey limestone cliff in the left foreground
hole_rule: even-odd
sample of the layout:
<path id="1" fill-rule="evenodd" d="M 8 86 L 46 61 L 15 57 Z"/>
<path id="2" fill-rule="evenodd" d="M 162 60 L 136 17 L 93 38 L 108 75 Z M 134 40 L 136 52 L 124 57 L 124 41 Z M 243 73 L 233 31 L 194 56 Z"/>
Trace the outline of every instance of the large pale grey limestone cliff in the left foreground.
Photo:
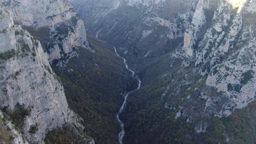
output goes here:
<path id="1" fill-rule="evenodd" d="M 0 4 L 0 107 L 10 115 L 14 143 L 44 143 L 48 131 L 65 123 L 83 129 L 40 41 L 15 25 L 5 6 Z"/>

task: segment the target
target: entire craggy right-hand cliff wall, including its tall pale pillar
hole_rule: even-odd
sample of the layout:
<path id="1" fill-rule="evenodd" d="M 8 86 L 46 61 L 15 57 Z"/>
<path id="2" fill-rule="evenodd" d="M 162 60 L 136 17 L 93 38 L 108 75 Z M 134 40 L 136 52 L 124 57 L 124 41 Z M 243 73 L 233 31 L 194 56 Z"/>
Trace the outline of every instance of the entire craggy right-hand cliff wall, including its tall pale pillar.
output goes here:
<path id="1" fill-rule="evenodd" d="M 201 11 L 202 19 L 195 11 L 195 24 L 185 34 L 183 48 L 190 59 L 188 62 L 195 62 L 199 73 L 207 76 L 206 85 L 217 88 L 218 92 L 223 93 L 222 97 L 232 101 L 223 104 L 223 109 L 218 112 L 218 116 L 222 117 L 229 116 L 235 109 L 241 109 L 255 99 L 255 23 L 250 17 L 255 2 L 216 2 L 218 7 L 212 20 L 208 21 L 212 23 L 202 40 L 198 39 L 196 33 L 207 23 L 205 11 L 214 7 L 205 6 L 205 3 L 209 5 L 207 1 L 197 4 L 196 11 Z"/>

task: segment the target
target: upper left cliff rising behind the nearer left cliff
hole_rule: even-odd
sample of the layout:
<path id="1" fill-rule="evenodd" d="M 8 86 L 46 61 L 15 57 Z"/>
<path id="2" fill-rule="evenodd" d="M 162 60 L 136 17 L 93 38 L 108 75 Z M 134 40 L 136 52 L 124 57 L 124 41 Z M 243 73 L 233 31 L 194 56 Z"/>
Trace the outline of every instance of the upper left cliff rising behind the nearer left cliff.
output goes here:
<path id="1" fill-rule="evenodd" d="M 76 56 L 73 49 L 90 49 L 86 39 L 84 22 L 70 7 L 69 1 L 4 1 L 5 8 L 12 11 L 15 23 L 24 26 L 43 44 L 49 60 Z M 40 31 L 41 30 L 41 31 Z M 39 31 L 39 32 L 37 32 Z M 60 66 L 65 65 L 60 62 Z"/>

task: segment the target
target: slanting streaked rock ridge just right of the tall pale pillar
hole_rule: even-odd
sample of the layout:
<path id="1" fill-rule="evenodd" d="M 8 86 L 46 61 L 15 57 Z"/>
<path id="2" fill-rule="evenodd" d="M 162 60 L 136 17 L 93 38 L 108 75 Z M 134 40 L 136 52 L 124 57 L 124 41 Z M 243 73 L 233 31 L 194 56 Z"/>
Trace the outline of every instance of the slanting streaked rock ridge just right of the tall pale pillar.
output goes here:
<path id="1" fill-rule="evenodd" d="M 214 23 L 200 41 L 199 50 L 196 52 L 196 65 L 219 63 L 219 57 L 226 55 L 234 47 L 234 42 L 242 29 L 242 19 L 242 13 L 235 11 L 230 3 L 220 2 L 212 20 Z M 202 69 L 202 73 L 207 74 L 208 71 L 207 66 Z"/>

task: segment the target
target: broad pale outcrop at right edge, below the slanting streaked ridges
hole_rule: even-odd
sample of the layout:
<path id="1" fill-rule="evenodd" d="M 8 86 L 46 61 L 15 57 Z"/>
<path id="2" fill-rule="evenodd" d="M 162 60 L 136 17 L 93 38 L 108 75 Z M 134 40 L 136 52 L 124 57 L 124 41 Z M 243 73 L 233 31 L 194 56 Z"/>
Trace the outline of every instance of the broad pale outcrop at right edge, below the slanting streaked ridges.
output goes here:
<path id="1" fill-rule="evenodd" d="M 207 77 L 206 85 L 212 86 L 233 104 L 223 105 L 220 116 L 228 116 L 232 109 L 242 109 L 256 97 L 256 44 L 255 39 L 237 51 L 229 61 L 218 64 Z M 234 58 L 235 57 L 235 58 Z"/>

